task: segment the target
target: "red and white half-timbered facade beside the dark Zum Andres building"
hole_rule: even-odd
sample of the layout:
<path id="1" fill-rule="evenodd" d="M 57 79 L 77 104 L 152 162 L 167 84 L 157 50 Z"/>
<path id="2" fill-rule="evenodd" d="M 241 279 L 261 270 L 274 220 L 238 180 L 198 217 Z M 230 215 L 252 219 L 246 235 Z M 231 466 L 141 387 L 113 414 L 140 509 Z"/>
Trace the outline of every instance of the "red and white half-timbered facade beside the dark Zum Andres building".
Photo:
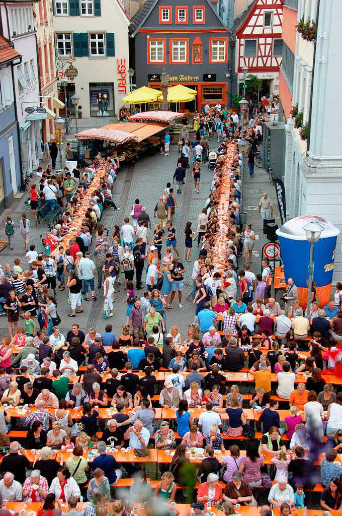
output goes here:
<path id="1" fill-rule="evenodd" d="M 236 30 L 235 62 L 239 83 L 243 83 L 242 67 L 247 66 L 248 74 L 263 80 L 263 93 L 279 92 L 282 19 L 283 0 L 255 0 Z"/>

